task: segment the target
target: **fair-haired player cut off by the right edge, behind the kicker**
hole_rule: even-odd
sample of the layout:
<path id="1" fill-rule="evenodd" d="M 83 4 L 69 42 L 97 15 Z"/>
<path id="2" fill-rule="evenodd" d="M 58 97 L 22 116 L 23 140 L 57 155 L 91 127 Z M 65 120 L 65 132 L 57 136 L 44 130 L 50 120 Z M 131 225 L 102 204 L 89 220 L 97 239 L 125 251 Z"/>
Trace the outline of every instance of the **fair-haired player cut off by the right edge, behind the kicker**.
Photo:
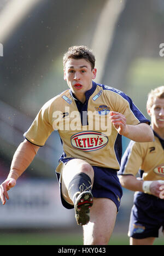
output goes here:
<path id="1" fill-rule="evenodd" d="M 131 141 L 118 173 L 122 187 L 137 191 L 128 232 L 131 245 L 153 245 L 164 228 L 164 86 L 149 93 L 147 112 L 155 139 Z M 136 178 L 138 171 L 140 178 Z"/>

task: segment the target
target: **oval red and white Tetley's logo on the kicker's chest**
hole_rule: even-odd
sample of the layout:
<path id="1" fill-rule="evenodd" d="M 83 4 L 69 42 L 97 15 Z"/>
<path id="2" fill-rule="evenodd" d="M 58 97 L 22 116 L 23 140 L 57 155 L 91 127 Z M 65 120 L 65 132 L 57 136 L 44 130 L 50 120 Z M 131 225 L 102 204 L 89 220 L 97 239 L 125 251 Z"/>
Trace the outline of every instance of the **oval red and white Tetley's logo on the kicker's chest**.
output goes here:
<path id="1" fill-rule="evenodd" d="M 72 147 L 85 152 L 103 148 L 108 143 L 108 137 L 101 132 L 84 131 L 71 137 Z"/>

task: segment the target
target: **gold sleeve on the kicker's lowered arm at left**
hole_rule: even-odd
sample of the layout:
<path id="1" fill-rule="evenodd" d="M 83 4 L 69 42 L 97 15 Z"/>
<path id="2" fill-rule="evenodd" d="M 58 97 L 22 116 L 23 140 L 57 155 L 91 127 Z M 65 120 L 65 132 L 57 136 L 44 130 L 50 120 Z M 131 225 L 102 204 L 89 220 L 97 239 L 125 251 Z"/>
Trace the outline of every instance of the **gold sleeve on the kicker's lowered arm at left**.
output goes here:
<path id="1" fill-rule="evenodd" d="M 42 147 L 54 131 L 50 122 L 49 103 L 45 103 L 34 119 L 31 127 L 24 133 L 24 137 L 31 143 Z"/>

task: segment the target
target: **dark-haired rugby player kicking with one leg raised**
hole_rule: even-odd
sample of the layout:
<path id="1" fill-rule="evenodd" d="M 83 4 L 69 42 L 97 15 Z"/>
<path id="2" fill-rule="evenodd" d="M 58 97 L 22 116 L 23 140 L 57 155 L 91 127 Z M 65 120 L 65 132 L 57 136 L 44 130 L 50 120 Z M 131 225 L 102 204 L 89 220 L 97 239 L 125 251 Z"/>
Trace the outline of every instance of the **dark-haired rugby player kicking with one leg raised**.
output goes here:
<path id="1" fill-rule="evenodd" d="M 97 70 L 89 48 L 69 48 L 63 71 L 69 89 L 46 102 L 25 132 L 1 185 L 1 200 L 6 202 L 7 191 L 57 130 L 63 144 L 56 168 L 63 206 L 74 208 L 77 223 L 83 225 L 84 245 L 107 245 L 122 196 L 117 177 L 121 136 L 149 142 L 153 131 L 127 95 L 93 82 Z"/>

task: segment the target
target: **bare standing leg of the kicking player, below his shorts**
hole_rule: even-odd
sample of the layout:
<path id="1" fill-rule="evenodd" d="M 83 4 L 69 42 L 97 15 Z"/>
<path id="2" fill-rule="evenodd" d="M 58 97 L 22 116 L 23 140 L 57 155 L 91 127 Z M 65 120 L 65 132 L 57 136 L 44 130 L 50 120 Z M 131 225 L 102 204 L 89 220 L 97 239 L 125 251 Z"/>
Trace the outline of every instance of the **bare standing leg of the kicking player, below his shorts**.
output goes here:
<path id="1" fill-rule="evenodd" d="M 83 226 L 84 245 L 108 245 L 116 215 L 117 208 L 112 200 L 94 197 L 90 222 Z"/>

